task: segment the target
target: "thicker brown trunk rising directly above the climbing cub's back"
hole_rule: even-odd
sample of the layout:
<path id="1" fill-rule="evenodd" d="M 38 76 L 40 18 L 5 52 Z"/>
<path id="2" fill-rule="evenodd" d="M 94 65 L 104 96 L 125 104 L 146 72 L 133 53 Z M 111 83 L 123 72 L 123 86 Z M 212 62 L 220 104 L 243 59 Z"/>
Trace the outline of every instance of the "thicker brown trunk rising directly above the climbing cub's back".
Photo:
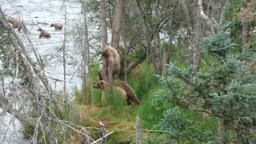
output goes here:
<path id="1" fill-rule="evenodd" d="M 116 50 L 119 50 L 123 8 L 124 8 L 123 0 L 116 0 L 115 8 L 114 8 L 114 20 L 112 24 L 112 42 L 111 42 L 111 46 L 113 46 Z"/>

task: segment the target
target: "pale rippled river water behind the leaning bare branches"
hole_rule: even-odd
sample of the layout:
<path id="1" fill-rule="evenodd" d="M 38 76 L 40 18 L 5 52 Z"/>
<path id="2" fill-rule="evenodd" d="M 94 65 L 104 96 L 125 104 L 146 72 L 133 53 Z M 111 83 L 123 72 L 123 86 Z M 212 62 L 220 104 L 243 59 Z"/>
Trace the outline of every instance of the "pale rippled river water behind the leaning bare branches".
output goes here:
<path id="1" fill-rule="evenodd" d="M 54 30 L 50 27 L 52 22 L 65 23 L 65 9 L 62 0 L 0 0 L 2 10 L 8 16 L 19 16 L 26 23 L 28 30 L 28 42 L 24 32 L 15 30 L 22 38 L 26 46 L 27 54 L 35 60 L 32 48 L 38 51 L 45 66 L 46 76 L 49 78 L 50 85 L 55 91 L 63 90 L 63 60 L 62 46 L 64 39 L 64 28 Z M 66 2 L 66 87 L 72 95 L 74 88 L 81 88 L 82 73 L 81 50 L 74 48 L 76 39 L 74 36 L 74 27 L 76 23 L 81 23 L 81 5 L 77 1 L 69 0 Z M 50 32 L 51 38 L 38 38 L 38 28 L 41 27 Z M 96 30 L 90 26 L 90 30 Z M 58 80 L 58 81 L 56 81 Z M 11 117 L 10 114 L 0 114 L 0 143 L 30 143 L 22 137 L 21 125 L 18 120 Z"/>

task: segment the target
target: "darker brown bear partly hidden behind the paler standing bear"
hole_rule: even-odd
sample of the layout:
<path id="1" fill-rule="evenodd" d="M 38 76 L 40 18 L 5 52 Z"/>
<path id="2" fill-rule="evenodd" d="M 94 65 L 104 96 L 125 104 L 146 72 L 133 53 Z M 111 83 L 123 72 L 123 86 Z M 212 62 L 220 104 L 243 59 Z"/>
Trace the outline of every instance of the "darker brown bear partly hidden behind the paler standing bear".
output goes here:
<path id="1" fill-rule="evenodd" d="M 101 72 L 98 73 L 98 80 L 103 80 Z M 128 102 L 130 102 L 131 100 L 136 102 L 138 105 L 141 104 L 140 100 L 137 98 L 134 92 L 134 89 L 126 81 L 114 81 L 114 86 L 121 87 L 123 90 L 126 91 Z"/>

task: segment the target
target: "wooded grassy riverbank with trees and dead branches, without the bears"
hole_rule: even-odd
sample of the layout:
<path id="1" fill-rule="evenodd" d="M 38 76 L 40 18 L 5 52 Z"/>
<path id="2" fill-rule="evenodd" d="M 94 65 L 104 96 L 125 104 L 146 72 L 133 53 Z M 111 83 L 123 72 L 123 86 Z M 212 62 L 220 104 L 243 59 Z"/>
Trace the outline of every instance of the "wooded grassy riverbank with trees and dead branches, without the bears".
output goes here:
<path id="1" fill-rule="evenodd" d="M 63 1 L 65 12 L 68 3 Z M 70 33 L 65 27 L 63 90 L 57 93 L 40 54 L 32 50 L 36 62 L 26 54 L 18 31 L 0 11 L 0 106 L 2 114 L 9 113 L 22 123 L 22 133 L 30 142 L 256 142 L 256 2 L 78 3 L 83 22 L 74 31 L 78 31 L 82 56 L 82 88 L 74 90 L 74 95 L 66 87 Z M 89 21 L 100 23 L 93 37 L 88 33 Z M 92 39 L 102 44 L 93 46 Z M 124 106 L 117 100 L 99 106 L 102 91 L 92 86 L 104 66 L 101 54 L 107 43 L 122 58 L 121 73 L 114 79 L 128 82 L 141 105 Z M 13 79 L 8 86 L 6 77 Z"/>

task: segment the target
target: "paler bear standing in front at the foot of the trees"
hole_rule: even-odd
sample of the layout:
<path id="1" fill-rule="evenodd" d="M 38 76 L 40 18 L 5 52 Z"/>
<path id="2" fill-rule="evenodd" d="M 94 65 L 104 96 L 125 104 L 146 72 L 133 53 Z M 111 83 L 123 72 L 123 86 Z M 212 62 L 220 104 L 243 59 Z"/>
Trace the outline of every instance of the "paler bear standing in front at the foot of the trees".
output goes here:
<path id="1" fill-rule="evenodd" d="M 102 98 L 101 98 L 102 105 L 106 105 L 106 94 L 107 94 L 106 90 L 110 90 L 109 84 L 107 82 L 105 82 L 104 80 L 102 80 L 102 81 L 95 83 L 94 88 L 102 90 Z M 120 88 L 118 86 L 113 86 L 113 92 L 114 92 L 114 95 L 119 94 L 123 98 L 124 101 L 127 101 L 126 91 L 122 90 L 122 88 Z"/>

